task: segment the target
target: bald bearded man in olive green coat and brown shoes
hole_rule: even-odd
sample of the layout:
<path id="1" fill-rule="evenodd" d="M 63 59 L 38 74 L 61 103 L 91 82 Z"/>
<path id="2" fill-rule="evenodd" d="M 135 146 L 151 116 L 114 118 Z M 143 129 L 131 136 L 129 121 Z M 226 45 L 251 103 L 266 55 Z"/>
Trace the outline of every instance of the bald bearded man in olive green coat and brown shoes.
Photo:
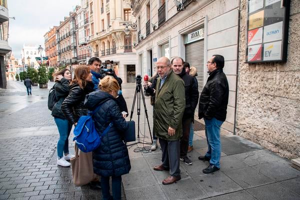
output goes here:
<path id="1" fill-rule="evenodd" d="M 169 170 L 162 184 L 171 184 L 181 179 L 179 169 L 181 119 L 185 108 L 183 80 L 173 73 L 170 60 L 160 57 L 156 62 L 159 77 L 156 82 L 153 111 L 153 131 L 162 150 L 162 164 L 154 170 Z"/>

